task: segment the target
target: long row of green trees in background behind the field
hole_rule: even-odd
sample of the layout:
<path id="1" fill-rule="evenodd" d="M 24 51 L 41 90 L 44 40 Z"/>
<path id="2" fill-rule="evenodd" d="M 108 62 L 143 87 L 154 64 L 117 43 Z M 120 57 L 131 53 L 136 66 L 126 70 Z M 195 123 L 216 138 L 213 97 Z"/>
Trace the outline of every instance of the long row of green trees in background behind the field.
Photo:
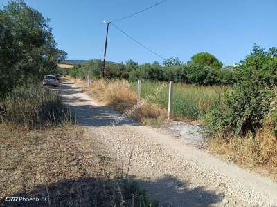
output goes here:
<path id="1" fill-rule="evenodd" d="M 199 61 L 199 59 L 203 60 Z M 139 65 L 132 60 L 126 63 L 107 62 L 104 73 L 106 79 L 126 79 L 131 82 L 143 79 L 201 86 L 232 85 L 233 67 L 219 68 L 218 66 L 222 66 L 222 63 L 215 56 L 205 52 L 194 55 L 188 63 L 181 62 L 177 57 L 170 58 L 163 63 L 163 66 L 158 62 Z M 87 79 L 89 76 L 96 80 L 102 77 L 102 61 L 95 59 L 62 71 L 64 75 L 71 75 L 78 79 Z"/>

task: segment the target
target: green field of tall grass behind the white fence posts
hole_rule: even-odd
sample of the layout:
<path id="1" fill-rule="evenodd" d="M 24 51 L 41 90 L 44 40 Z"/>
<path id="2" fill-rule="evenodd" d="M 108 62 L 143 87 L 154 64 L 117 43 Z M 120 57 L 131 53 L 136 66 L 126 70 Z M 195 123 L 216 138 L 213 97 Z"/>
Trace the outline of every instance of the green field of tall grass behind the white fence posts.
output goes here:
<path id="1" fill-rule="evenodd" d="M 152 95 L 153 91 L 161 86 L 161 82 L 143 81 L 141 84 L 141 97 Z M 132 90 L 137 89 L 137 82 L 131 83 Z M 164 87 L 151 101 L 158 103 L 163 108 L 168 107 L 168 87 Z M 173 115 L 185 119 L 199 119 L 204 113 L 220 106 L 223 90 L 221 86 L 193 86 L 182 83 L 174 83 L 173 87 Z"/>

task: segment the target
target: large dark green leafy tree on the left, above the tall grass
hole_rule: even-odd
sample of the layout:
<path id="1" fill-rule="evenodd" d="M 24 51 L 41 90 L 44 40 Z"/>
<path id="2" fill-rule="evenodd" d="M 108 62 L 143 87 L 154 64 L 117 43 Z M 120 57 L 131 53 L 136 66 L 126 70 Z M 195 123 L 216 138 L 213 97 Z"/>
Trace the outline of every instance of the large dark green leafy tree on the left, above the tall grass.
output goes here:
<path id="1" fill-rule="evenodd" d="M 10 1 L 0 10 L 0 95 L 40 81 L 56 70 L 66 52 L 56 48 L 49 19 L 24 1 Z"/>

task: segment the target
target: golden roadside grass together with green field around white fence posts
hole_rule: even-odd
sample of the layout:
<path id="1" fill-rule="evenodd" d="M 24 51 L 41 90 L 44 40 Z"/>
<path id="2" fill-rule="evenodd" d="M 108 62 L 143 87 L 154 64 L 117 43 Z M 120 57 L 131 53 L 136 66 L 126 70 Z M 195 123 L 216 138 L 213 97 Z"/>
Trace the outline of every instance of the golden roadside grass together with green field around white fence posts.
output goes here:
<path id="1" fill-rule="evenodd" d="M 125 80 L 94 81 L 91 86 L 81 80 L 75 80 L 84 91 L 98 101 L 110 106 L 119 112 L 127 112 L 136 103 L 137 83 Z M 161 82 L 143 81 L 141 97 L 153 95 L 154 90 L 161 90 L 153 95 L 148 102 L 136 110 L 130 117 L 141 121 L 143 124 L 155 126 L 166 120 L 168 106 L 168 86 L 161 87 Z M 223 88 L 218 86 L 188 86 L 176 83 L 173 97 L 173 119 L 179 121 L 193 121 L 199 119 L 206 110 L 215 106 L 220 99 Z"/>

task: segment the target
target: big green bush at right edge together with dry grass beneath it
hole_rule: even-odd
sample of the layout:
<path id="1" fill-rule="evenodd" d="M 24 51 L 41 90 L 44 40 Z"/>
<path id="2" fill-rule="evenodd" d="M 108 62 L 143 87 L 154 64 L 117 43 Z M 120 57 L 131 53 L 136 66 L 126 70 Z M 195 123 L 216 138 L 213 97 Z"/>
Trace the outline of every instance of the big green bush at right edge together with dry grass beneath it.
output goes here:
<path id="1" fill-rule="evenodd" d="M 247 166 L 277 169 L 277 49 L 254 46 L 235 71 L 237 83 L 206 114 L 211 148 Z"/>

